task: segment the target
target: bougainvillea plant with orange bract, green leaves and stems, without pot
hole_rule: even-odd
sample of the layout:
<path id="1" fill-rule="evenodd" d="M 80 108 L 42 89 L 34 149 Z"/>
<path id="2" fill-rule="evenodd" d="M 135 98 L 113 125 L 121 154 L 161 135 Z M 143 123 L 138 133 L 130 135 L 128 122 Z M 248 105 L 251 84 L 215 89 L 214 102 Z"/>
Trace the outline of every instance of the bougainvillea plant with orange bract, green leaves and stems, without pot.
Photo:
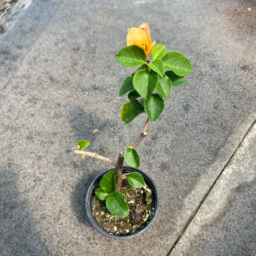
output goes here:
<path id="1" fill-rule="evenodd" d="M 125 67 L 139 68 L 124 80 L 119 91 L 119 96 L 127 93 L 129 100 L 121 109 L 121 119 L 128 124 L 141 113 L 146 113 L 148 118 L 143 131 L 133 145 L 127 145 L 125 152 L 119 153 L 117 162 L 111 158 L 83 151 L 90 145 L 87 140 L 78 141 L 79 150 L 75 150 L 77 155 L 95 157 L 115 166 L 115 170 L 103 176 L 100 188 L 95 189 L 95 194 L 100 200 L 106 200 L 107 209 L 118 217 L 126 217 L 129 214 L 124 195 L 120 192 L 122 180 L 127 179 L 134 188 L 145 186 L 143 177 L 138 172 L 123 175 L 124 160 L 132 167 L 139 167 L 140 158 L 136 148 L 147 135 L 148 123 L 156 121 L 162 114 L 164 99 L 169 100 L 173 87 L 186 84 L 188 81 L 184 76 L 193 72 L 185 55 L 177 51 L 166 52 L 163 44 L 155 46 L 155 41 L 151 42 L 150 30 L 146 22 L 139 28 L 128 29 L 126 41 L 127 47 L 119 51 L 115 58 Z M 152 58 L 147 60 L 151 52 Z"/>

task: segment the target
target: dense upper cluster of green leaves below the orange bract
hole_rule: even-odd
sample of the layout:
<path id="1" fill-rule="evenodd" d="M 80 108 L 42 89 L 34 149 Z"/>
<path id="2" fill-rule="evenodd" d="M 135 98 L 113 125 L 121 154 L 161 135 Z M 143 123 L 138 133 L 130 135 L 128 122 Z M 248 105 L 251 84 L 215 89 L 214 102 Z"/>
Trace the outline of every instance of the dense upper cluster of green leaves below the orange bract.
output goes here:
<path id="1" fill-rule="evenodd" d="M 146 60 L 145 52 L 137 45 L 123 48 L 115 58 L 125 67 L 140 66 L 125 79 L 119 91 L 119 96 L 128 93 L 130 100 L 121 109 L 125 124 L 141 113 L 146 113 L 151 122 L 156 121 L 164 110 L 164 98 L 169 100 L 172 88 L 186 84 L 184 76 L 194 72 L 185 55 L 177 51 L 166 52 L 163 44 L 154 48 L 152 61 Z"/>

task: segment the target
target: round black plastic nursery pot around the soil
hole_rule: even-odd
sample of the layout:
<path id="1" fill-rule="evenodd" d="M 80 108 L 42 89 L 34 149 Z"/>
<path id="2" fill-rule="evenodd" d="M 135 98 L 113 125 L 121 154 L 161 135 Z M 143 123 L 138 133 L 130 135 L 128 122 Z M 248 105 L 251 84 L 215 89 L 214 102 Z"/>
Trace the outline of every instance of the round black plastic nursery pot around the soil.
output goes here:
<path id="1" fill-rule="evenodd" d="M 155 202 L 155 210 L 152 213 L 152 218 L 149 220 L 149 222 L 146 224 L 145 227 L 143 227 L 141 230 L 139 230 L 137 233 L 134 234 L 127 234 L 127 235 L 114 235 L 111 233 L 108 233 L 105 229 L 103 229 L 99 223 L 97 222 L 97 220 L 94 219 L 93 215 L 92 215 L 92 198 L 95 195 L 94 194 L 94 188 L 95 186 L 97 186 L 97 184 L 100 182 L 101 178 L 103 177 L 103 175 L 111 170 L 115 169 L 115 167 L 110 168 L 108 170 L 105 170 L 104 172 L 100 173 L 91 183 L 90 188 L 88 189 L 87 195 L 86 195 L 86 212 L 87 215 L 90 219 L 90 221 L 92 222 L 92 225 L 103 235 L 110 237 L 110 238 L 115 238 L 115 239 L 129 239 L 129 238 L 133 238 L 135 236 L 138 236 L 142 233 L 144 233 L 154 222 L 154 220 L 156 219 L 156 215 L 158 212 L 158 207 L 159 207 L 159 195 L 156 189 L 156 185 L 153 182 L 153 180 L 150 179 L 150 177 L 143 171 L 141 171 L 140 169 L 131 167 L 131 166 L 123 166 L 123 173 L 129 173 L 129 172 L 139 172 L 145 182 L 147 183 L 148 187 L 152 190 L 152 195 L 154 197 L 154 202 Z"/>

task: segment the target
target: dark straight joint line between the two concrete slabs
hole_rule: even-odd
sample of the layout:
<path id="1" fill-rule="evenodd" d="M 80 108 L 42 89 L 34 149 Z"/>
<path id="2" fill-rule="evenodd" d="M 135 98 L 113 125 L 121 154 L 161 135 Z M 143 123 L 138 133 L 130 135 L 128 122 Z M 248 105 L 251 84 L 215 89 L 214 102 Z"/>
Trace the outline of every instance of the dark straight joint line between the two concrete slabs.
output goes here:
<path id="1" fill-rule="evenodd" d="M 245 137 L 247 136 L 247 134 L 250 132 L 250 130 L 252 129 L 253 125 L 256 124 L 256 119 L 252 122 L 252 124 L 250 125 L 249 129 L 246 131 L 244 137 L 242 138 L 242 140 L 239 142 L 238 146 L 236 147 L 234 153 L 230 156 L 230 158 L 228 159 L 227 163 L 225 164 L 225 166 L 223 167 L 223 169 L 221 170 L 221 172 L 219 173 L 218 177 L 214 180 L 214 182 L 212 183 L 211 187 L 206 191 L 206 193 L 204 194 L 203 198 L 201 199 L 201 201 L 198 203 L 196 209 L 194 210 L 194 212 L 191 214 L 191 216 L 189 217 L 188 221 L 186 222 L 185 226 L 183 227 L 183 229 L 181 230 L 179 236 L 177 237 L 176 241 L 174 242 L 174 244 L 172 245 L 169 253 L 166 256 L 170 256 L 172 250 L 174 249 L 175 245 L 179 242 L 179 239 L 181 238 L 181 236 L 183 235 L 183 233 L 185 233 L 187 227 L 189 226 L 190 222 L 194 219 L 196 213 L 198 212 L 198 210 L 200 209 L 201 205 L 204 203 L 206 197 L 209 195 L 209 193 L 211 192 L 212 188 L 214 187 L 215 183 L 218 181 L 218 179 L 220 178 L 221 174 L 223 173 L 223 171 L 225 171 L 226 167 L 228 166 L 228 164 L 230 163 L 231 159 L 234 157 L 236 151 L 238 150 L 238 148 L 242 145 Z"/>

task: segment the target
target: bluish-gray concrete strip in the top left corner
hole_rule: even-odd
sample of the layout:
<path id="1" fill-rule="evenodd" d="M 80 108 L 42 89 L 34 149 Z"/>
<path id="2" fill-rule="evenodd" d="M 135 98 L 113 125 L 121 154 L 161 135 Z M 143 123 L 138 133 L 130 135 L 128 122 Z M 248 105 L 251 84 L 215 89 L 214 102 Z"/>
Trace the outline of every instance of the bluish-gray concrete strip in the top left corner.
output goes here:
<path id="1" fill-rule="evenodd" d="M 55 0 L 19 0 L 0 15 L 0 27 L 5 31 L 0 34 L 0 89 L 12 78 L 20 61 L 59 4 L 60 1 Z"/>

